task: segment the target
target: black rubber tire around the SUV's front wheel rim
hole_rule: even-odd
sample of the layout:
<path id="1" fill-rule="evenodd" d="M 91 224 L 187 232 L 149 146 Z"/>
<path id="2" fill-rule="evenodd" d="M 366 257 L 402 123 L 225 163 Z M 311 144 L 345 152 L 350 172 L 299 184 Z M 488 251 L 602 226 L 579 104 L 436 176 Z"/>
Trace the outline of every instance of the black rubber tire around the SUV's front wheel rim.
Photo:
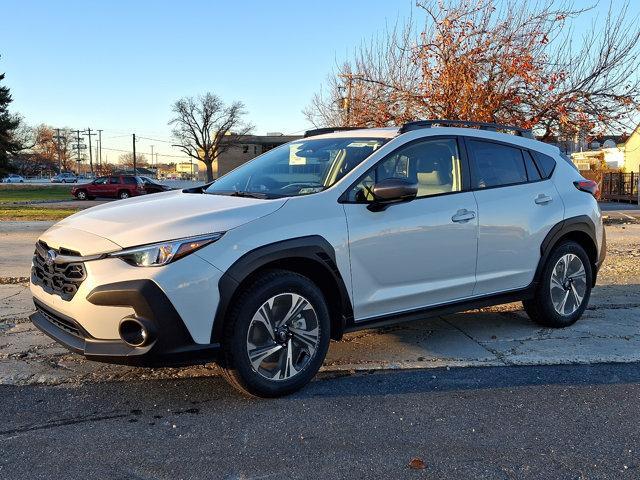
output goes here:
<path id="1" fill-rule="evenodd" d="M 307 299 L 315 310 L 318 345 L 306 365 L 288 379 L 268 379 L 249 360 L 248 333 L 253 316 L 277 295 L 293 293 Z M 329 349 L 329 310 L 320 289 L 307 277 L 286 270 L 270 270 L 256 277 L 235 298 L 224 326 L 220 366 L 227 381 L 241 393 L 255 397 L 279 397 L 304 387 L 318 372 Z"/>

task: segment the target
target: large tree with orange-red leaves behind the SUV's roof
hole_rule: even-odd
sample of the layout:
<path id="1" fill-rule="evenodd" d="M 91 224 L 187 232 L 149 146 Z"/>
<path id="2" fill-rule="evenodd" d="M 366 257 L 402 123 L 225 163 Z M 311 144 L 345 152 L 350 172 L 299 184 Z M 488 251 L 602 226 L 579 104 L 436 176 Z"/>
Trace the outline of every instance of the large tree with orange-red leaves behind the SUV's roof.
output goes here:
<path id="1" fill-rule="evenodd" d="M 305 110 L 316 126 L 418 118 L 516 123 L 543 138 L 624 131 L 640 104 L 640 28 L 628 3 L 576 42 L 585 9 L 563 0 L 418 2 L 362 44 Z"/>

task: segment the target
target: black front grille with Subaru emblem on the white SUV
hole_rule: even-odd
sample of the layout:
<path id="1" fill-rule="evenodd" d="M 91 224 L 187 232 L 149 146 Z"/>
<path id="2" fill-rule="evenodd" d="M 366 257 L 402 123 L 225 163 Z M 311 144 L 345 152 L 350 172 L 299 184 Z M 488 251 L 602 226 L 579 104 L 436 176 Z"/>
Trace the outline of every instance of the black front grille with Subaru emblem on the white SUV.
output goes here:
<path id="1" fill-rule="evenodd" d="M 31 268 L 31 281 L 40 285 L 45 292 L 60 296 L 69 301 L 80 288 L 86 278 L 84 264 L 82 262 L 53 263 L 47 262 L 48 252 L 55 254 L 79 256 L 78 252 L 63 249 L 49 248 L 46 243 L 39 241 L 33 254 L 33 267 Z"/>

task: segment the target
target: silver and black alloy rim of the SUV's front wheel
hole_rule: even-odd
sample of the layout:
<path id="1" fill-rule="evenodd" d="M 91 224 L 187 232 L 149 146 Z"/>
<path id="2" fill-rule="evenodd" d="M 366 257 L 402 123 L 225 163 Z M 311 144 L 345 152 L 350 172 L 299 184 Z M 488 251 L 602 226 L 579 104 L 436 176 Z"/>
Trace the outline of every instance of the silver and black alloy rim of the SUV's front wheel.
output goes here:
<path id="1" fill-rule="evenodd" d="M 309 364 L 320 345 L 313 305 L 296 293 L 269 298 L 253 315 L 247 355 L 255 372 L 269 380 L 289 380 Z"/>

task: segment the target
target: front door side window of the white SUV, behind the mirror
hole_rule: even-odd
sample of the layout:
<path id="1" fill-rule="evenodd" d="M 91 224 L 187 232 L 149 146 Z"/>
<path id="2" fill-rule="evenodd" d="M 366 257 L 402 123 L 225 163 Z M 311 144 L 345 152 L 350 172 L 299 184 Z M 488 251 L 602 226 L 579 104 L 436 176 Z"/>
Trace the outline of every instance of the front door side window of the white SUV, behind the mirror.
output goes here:
<path id="1" fill-rule="evenodd" d="M 371 189 L 387 178 L 404 178 L 418 184 L 418 197 L 462 190 L 458 143 L 440 138 L 398 148 L 369 170 L 348 192 L 351 202 L 372 201 Z"/>

